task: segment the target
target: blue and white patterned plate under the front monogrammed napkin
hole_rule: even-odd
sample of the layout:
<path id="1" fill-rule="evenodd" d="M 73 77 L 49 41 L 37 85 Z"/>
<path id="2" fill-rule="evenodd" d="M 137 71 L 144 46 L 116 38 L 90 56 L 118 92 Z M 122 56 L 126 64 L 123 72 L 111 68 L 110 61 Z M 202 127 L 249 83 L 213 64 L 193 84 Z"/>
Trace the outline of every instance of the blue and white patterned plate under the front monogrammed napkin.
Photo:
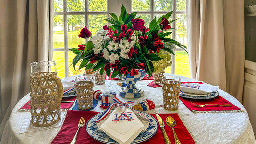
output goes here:
<path id="1" fill-rule="evenodd" d="M 147 139 L 151 138 L 154 134 L 156 134 L 156 132 L 158 131 L 157 120 L 150 114 L 147 114 L 146 112 L 140 111 L 140 113 L 144 114 L 152 122 L 152 124 L 148 126 L 146 131 L 141 132 L 131 144 L 137 144 L 146 141 Z M 98 130 L 98 126 L 94 120 L 100 117 L 102 114 L 103 112 L 95 115 L 87 122 L 86 131 L 89 133 L 91 137 L 102 143 L 119 144 L 115 140 L 111 139 L 105 132 Z"/>

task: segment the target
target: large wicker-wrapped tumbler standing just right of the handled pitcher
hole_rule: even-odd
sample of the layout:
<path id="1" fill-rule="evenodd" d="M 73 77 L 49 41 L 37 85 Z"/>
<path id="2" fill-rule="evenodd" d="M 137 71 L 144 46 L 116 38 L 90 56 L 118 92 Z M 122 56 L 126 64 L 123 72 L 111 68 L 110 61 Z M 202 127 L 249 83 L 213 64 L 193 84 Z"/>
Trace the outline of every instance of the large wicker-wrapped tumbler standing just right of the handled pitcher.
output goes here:
<path id="1" fill-rule="evenodd" d="M 86 110 L 93 106 L 93 76 L 85 75 L 75 78 L 78 109 Z"/>

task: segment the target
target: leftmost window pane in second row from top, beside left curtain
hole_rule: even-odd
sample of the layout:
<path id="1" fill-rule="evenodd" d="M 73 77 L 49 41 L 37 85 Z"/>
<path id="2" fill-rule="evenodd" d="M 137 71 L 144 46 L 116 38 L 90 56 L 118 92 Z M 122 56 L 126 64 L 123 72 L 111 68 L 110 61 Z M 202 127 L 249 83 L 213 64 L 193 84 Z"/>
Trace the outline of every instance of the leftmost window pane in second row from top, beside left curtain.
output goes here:
<path id="1" fill-rule="evenodd" d="M 63 15 L 54 15 L 53 48 L 64 48 Z"/>

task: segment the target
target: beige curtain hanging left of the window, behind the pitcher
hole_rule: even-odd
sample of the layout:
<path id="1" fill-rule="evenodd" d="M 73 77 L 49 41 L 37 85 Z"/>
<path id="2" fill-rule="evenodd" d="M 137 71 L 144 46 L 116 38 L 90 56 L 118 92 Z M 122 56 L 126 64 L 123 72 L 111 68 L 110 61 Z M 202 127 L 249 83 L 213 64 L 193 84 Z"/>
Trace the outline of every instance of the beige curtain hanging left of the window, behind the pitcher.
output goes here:
<path id="1" fill-rule="evenodd" d="M 50 0 L 0 0 L 0 137 L 30 92 L 30 63 L 48 60 Z"/>

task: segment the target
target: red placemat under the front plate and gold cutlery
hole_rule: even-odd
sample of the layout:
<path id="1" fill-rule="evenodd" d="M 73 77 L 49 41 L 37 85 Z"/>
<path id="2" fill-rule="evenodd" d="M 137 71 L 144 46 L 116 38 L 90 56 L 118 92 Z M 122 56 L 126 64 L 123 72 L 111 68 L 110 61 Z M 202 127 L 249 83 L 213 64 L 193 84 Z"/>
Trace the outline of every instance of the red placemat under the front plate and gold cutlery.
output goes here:
<path id="1" fill-rule="evenodd" d="M 65 121 L 63 122 L 63 125 L 61 127 L 61 130 L 53 139 L 51 144 L 69 144 L 72 141 L 73 136 L 77 131 L 77 128 L 78 128 L 77 125 L 79 123 L 80 117 L 85 116 L 86 117 L 85 122 L 87 123 L 87 121 L 90 120 L 96 114 L 98 114 L 98 112 L 68 110 Z M 155 114 L 150 114 L 150 115 L 152 115 L 157 120 Z M 172 116 L 176 120 L 176 126 L 174 129 L 182 144 L 195 144 L 192 136 L 187 131 L 186 127 L 183 125 L 183 122 L 180 120 L 178 114 L 159 114 L 159 115 L 162 117 L 163 120 L 165 120 L 168 116 Z M 171 144 L 175 144 L 171 127 L 165 126 L 165 130 L 171 141 Z M 78 131 L 76 144 L 103 144 L 103 143 L 95 140 L 87 133 L 86 124 L 85 124 L 85 126 L 80 128 Z M 158 126 L 158 131 L 153 137 L 151 137 L 150 139 L 140 144 L 164 144 L 164 139 L 163 139 L 163 135 L 160 127 Z"/>

